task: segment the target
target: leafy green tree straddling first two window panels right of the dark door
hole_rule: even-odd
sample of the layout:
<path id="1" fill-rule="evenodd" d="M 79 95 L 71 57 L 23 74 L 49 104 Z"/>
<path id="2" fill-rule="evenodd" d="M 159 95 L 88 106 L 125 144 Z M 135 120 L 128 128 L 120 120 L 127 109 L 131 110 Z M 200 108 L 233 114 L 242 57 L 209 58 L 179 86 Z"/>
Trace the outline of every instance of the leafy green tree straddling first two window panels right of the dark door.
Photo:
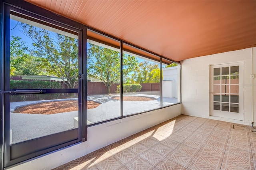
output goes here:
<path id="1" fill-rule="evenodd" d="M 109 94 L 111 85 L 120 80 L 119 56 L 118 51 L 88 43 L 88 77 L 104 82 Z M 136 57 L 123 55 L 123 76 L 126 77 L 137 65 Z"/>

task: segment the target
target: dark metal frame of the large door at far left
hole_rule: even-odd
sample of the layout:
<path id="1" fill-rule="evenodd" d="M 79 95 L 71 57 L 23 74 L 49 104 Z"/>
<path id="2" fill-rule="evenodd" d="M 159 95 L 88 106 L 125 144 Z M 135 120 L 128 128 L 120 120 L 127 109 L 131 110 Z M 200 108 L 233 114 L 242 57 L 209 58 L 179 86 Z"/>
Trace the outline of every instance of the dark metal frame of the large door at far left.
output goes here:
<path id="1" fill-rule="evenodd" d="M 16 8 L 15 5 L 12 3 L 18 3 L 23 8 Z M 15 12 L 20 12 L 21 14 L 25 14 L 27 16 L 36 18 L 38 20 L 43 20 L 44 22 L 48 22 L 50 24 L 60 26 L 66 29 L 74 30 L 78 32 L 78 62 L 79 62 L 79 87 L 77 91 L 78 93 L 78 115 L 80 119 L 78 120 L 78 128 L 67 130 L 64 132 L 56 133 L 56 134 L 50 134 L 48 136 L 43 136 L 19 143 L 10 144 L 8 142 L 10 140 L 10 109 L 8 109 L 10 103 L 7 101 L 9 99 L 10 94 L 9 93 L 0 93 L 0 130 L 1 133 L 4 132 L 4 135 L 1 135 L 0 137 L 0 169 L 3 169 L 4 167 L 10 167 L 14 164 L 17 164 L 19 162 L 23 162 L 25 160 L 35 158 L 37 156 L 41 156 L 42 154 L 46 154 L 47 152 L 51 152 L 53 150 L 57 150 L 59 148 L 68 146 L 70 144 L 75 144 L 81 141 L 87 140 L 87 115 L 86 115 L 86 80 L 85 80 L 85 74 L 86 74 L 86 49 L 82 46 L 83 43 L 86 44 L 86 28 L 83 27 L 81 24 L 78 24 L 77 22 L 71 21 L 67 18 L 56 16 L 54 13 L 48 12 L 46 10 L 42 10 L 41 8 L 35 7 L 32 4 L 28 4 L 27 2 L 0 2 L 1 7 L 1 13 L 0 13 L 0 25 L 3 29 L 1 29 L 1 48 L 2 55 L 0 56 L 0 65 L 1 67 L 1 73 L 0 73 L 0 79 L 2 80 L 0 83 L 0 91 L 8 91 L 9 89 L 9 81 L 10 81 L 10 26 L 6 25 L 6 23 L 10 22 L 10 10 L 14 10 Z M 38 11 L 36 13 L 29 11 L 35 10 Z M 40 12 L 41 11 L 41 12 Z M 55 19 L 53 19 L 55 18 Z M 57 20 L 59 19 L 59 20 Z M 4 24 L 5 23 L 5 24 Z M 68 23 L 68 24 L 66 24 Z M 9 24 L 10 25 L 10 24 Z M 4 64 L 5 63 L 5 64 Z M 7 63 L 7 64 L 6 64 Z M 5 67 L 4 67 L 5 66 Z M 16 89 L 18 90 L 18 89 Z M 32 89 L 31 89 L 32 90 Z M 49 93 L 63 93 L 63 89 L 46 89 L 50 91 Z M 55 91 L 55 92 L 54 92 Z M 74 89 L 70 89 L 70 93 L 73 93 Z M 42 93 L 40 93 L 42 94 Z M 6 107 L 3 107 L 5 105 Z M 4 108 L 4 109 L 3 109 Z M 5 110 L 5 111 L 3 111 Z M 4 116 L 5 115 L 5 116 Z M 5 119 L 3 119 L 5 117 Z M 5 123 L 4 123 L 5 122 Z M 8 123 L 9 122 L 9 123 Z M 74 135 L 75 134 L 75 135 Z M 55 140 L 55 142 L 54 142 Z M 51 144 L 47 144 L 49 141 L 51 141 Z M 53 142 L 52 142 L 53 141 Z M 44 145 L 41 148 L 40 145 Z M 28 147 L 30 146 L 30 147 Z M 11 148 L 12 147 L 12 148 Z M 26 152 L 26 149 L 30 149 L 30 152 Z M 24 152 L 26 154 L 20 155 L 16 154 L 16 157 L 11 159 L 10 154 L 14 153 L 14 150 L 18 152 Z M 15 153 L 14 153 L 15 154 Z"/>

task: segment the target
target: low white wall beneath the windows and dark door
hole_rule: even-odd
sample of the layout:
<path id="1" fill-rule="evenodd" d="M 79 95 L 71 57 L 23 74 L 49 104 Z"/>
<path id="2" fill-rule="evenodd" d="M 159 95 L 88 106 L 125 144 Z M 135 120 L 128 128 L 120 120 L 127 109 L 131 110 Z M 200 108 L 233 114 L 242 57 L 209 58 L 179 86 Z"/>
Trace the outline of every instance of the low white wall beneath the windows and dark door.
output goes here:
<path id="1" fill-rule="evenodd" d="M 62 164 L 80 158 L 90 152 L 126 138 L 136 132 L 162 123 L 181 113 L 181 104 L 158 109 L 103 123 L 88 128 L 88 140 L 60 150 L 34 158 L 28 162 L 9 168 L 11 170 L 50 170 Z"/>

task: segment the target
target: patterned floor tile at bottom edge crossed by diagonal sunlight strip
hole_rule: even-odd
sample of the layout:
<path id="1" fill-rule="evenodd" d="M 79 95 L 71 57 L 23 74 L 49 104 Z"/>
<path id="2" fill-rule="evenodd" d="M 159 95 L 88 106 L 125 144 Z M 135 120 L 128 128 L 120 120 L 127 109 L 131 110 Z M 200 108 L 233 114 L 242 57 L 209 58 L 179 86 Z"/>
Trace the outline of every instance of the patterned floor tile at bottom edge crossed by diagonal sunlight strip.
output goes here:
<path id="1" fill-rule="evenodd" d="M 76 160 L 73 160 L 72 162 L 67 163 L 69 170 L 97 170 L 96 166 L 94 165 L 94 162 L 90 159 L 89 156 L 83 156 L 81 158 L 78 158 Z"/>

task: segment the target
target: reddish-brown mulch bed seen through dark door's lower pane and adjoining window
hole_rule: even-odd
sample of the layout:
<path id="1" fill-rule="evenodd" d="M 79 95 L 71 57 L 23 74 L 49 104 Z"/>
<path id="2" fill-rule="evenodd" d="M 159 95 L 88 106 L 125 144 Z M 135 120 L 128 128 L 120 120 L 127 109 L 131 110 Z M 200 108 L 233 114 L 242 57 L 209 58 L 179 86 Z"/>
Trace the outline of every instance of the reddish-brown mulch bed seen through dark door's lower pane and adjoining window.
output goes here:
<path id="1" fill-rule="evenodd" d="M 94 101 L 88 101 L 87 108 L 93 109 L 100 105 Z M 55 113 L 64 113 L 78 110 L 78 101 L 69 100 L 69 101 L 53 101 L 38 103 L 34 105 L 19 107 L 15 109 L 13 113 L 28 113 L 28 114 L 43 114 L 50 115 Z"/>

